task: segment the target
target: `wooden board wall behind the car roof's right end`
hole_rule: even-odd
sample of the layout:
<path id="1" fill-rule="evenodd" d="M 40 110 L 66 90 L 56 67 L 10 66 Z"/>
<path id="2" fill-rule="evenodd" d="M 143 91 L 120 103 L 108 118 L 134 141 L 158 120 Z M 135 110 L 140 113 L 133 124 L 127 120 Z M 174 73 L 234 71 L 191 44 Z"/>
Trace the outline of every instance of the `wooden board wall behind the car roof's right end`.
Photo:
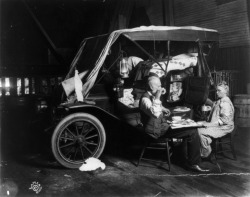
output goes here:
<path id="1" fill-rule="evenodd" d="M 220 50 L 214 65 L 216 71 L 238 70 L 243 83 L 250 82 L 249 1 L 175 0 L 174 24 L 218 30 Z"/>

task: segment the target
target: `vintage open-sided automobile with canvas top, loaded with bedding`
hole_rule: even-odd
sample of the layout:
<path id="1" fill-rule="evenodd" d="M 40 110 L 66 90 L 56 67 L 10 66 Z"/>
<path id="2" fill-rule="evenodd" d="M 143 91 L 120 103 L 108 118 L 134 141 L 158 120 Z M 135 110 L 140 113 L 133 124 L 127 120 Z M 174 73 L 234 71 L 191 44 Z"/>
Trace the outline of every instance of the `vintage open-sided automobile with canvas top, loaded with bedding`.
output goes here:
<path id="1" fill-rule="evenodd" d="M 112 129 L 141 127 L 138 103 L 150 74 L 166 88 L 164 105 L 186 107 L 186 79 L 211 77 L 218 41 L 216 30 L 194 26 L 142 26 L 84 39 L 53 109 L 56 160 L 79 168 L 101 156 Z"/>

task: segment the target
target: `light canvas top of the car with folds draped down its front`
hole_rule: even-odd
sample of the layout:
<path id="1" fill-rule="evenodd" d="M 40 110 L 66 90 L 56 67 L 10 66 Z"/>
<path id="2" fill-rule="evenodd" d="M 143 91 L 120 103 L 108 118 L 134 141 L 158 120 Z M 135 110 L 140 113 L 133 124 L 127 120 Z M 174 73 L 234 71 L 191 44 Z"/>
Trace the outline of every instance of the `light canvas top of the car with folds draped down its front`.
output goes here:
<path id="1" fill-rule="evenodd" d="M 111 46 L 121 35 L 133 41 L 219 41 L 219 34 L 216 30 L 194 26 L 142 26 L 132 29 L 116 30 L 110 34 L 86 38 L 83 40 L 78 53 L 71 63 L 66 79 L 62 82 L 67 96 L 75 90 L 75 69 L 79 71 L 79 77 L 82 79 L 83 97 L 86 98 L 88 96 L 89 90 L 94 85 L 98 72 Z"/>

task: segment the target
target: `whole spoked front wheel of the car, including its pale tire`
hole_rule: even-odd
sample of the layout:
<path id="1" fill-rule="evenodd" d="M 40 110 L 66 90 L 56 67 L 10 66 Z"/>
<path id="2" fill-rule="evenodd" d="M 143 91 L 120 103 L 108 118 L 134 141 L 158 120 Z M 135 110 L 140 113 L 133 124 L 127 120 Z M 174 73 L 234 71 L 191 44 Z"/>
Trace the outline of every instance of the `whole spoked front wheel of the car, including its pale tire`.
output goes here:
<path id="1" fill-rule="evenodd" d="M 79 168 L 87 158 L 100 157 L 106 144 L 105 129 L 91 114 L 70 114 L 55 128 L 51 144 L 60 164 Z"/>

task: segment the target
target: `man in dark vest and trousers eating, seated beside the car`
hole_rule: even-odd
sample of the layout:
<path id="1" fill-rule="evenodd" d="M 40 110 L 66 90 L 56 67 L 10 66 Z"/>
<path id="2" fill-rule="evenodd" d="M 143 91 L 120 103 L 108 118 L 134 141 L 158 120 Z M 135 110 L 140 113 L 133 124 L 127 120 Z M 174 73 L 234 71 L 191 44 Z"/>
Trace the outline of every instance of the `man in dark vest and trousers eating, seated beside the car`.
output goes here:
<path id="1" fill-rule="evenodd" d="M 167 123 L 164 113 L 169 116 L 170 111 L 162 106 L 160 97 L 163 88 L 161 81 L 156 76 L 148 78 L 148 89 L 140 99 L 141 121 L 145 132 L 152 138 L 182 138 L 187 140 L 187 162 L 186 167 L 189 170 L 197 172 L 207 172 L 199 166 L 200 157 L 200 139 L 195 128 L 180 128 L 172 130 Z"/>

